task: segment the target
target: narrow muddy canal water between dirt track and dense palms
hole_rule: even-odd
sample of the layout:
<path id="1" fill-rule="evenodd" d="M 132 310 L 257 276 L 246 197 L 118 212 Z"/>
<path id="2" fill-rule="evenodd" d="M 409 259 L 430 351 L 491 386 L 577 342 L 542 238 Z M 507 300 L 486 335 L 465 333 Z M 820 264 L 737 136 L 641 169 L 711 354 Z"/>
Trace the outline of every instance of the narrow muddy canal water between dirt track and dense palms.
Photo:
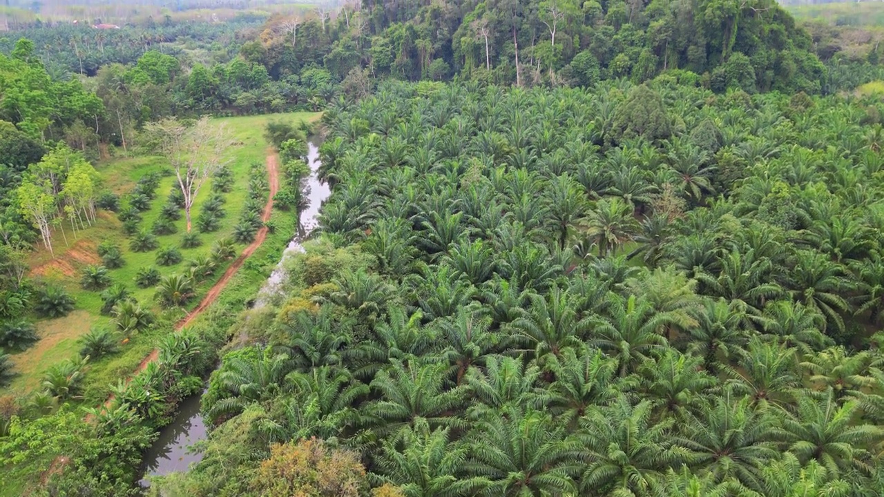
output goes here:
<path id="1" fill-rule="evenodd" d="M 286 258 L 303 252 L 301 240 L 316 227 L 317 215 L 323 201 L 331 195 L 328 185 L 320 183 L 316 179 L 316 170 L 320 166 L 319 149 L 311 141 L 308 142 L 308 164 L 310 176 L 308 178 L 309 206 L 301 212 L 301 233 L 295 234 L 288 247 L 283 251 L 276 268 L 264 283 L 255 299 L 255 308 L 263 307 L 270 301 L 273 295 L 278 294 L 286 280 L 284 262 Z M 200 395 L 188 397 L 179 405 L 178 414 L 170 424 L 164 426 L 160 436 L 149 448 L 144 456 L 144 477 L 160 476 L 172 471 L 186 471 L 191 463 L 197 463 L 202 459 L 201 454 L 190 454 L 188 447 L 199 440 L 206 438 L 206 426 L 200 416 Z M 149 486 L 146 479 L 141 479 L 141 486 Z"/>

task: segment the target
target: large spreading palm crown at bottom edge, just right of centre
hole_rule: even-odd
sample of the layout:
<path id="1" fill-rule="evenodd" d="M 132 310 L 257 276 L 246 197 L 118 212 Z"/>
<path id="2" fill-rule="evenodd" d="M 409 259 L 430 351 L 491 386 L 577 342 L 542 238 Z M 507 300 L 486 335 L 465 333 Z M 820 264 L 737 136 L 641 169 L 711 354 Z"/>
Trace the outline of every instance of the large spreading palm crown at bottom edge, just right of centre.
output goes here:
<path id="1" fill-rule="evenodd" d="M 489 495 L 576 492 L 585 450 L 547 413 L 513 406 L 490 410 L 476 421 L 467 440 L 472 454 L 467 471 L 490 481 Z"/>

